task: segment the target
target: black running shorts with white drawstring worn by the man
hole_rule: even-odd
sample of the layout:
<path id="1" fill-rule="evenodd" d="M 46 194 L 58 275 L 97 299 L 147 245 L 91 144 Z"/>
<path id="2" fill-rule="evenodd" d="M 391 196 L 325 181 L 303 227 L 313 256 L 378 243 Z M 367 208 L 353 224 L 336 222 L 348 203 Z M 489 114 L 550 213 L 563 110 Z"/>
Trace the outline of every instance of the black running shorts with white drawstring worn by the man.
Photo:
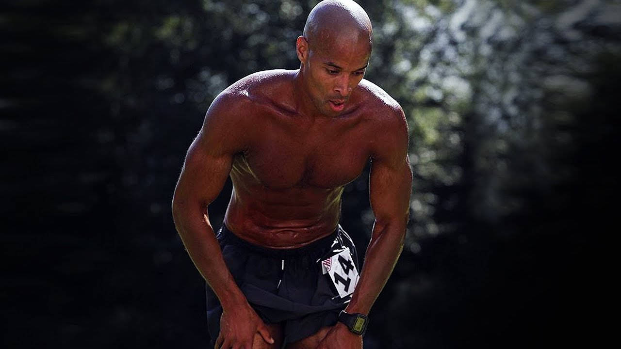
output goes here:
<path id="1" fill-rule="evenodd" d="M 339 278 L 326 272 L 325 261 L 332 258 L 338 263 L 336 255 L 346 253 L 345 271 L 355 264 L 358 268 L 358 255 L 351 238 L 338 225 L 335 232 L 301 248 L 274 249 L 253 245 L 237 237 L 223 224 L 217 233 L 224 261 L 235 283 L 248 299 L 250 306 L 266 324 L 283 324 L 283 348 L 287 343 L 296 342 L 316 333 L 321 327 L 332 326 L 337 322 L 338 313 L 345 309 L 351 299 L 355 281 L 350 283 L 347 274 Z M 347 255 L 347 248 L 349 255 Z M 343 255 L 339 255 L 343 256 Z M 353 261 L 353 263 L 349 263 Z M 322 264 L 324 265 L 322 267 Z M 343 270 L 341 270 L 343 271 Z M 341 296 L 337 289 L 345 284 L 350 294 Z M 207 327 L 211 336 L 211 347 L 220 332 L 222 306 L 214 292 L 207 286 Z"/>

